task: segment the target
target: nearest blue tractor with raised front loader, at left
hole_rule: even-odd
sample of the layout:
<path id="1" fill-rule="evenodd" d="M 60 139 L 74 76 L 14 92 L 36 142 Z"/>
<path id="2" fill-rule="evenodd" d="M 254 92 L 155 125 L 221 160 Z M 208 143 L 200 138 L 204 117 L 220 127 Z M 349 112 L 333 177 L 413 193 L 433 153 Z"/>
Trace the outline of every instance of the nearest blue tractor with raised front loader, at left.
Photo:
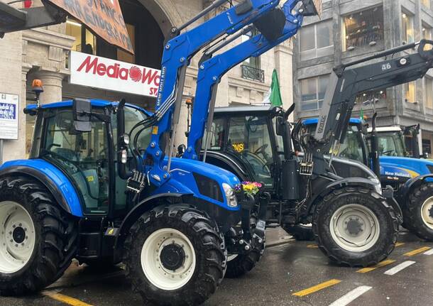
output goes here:
<path id="1" fill-rule="evenodd" d="M 279 1 L 243 0 L 185 31 L 226 3 L 172 29 L 155 114 L 124 100 L 26 108 L 36 116 L 31 156 L 0 168 L 1 295 L 45 288 L 72 258 L 124 262 L 133 288 L 158 305 L 197 305 L 215 292 L 226 239 L 232 252 L 246 249 L 234 227 L 248 198 L 236 197 L 239 179 L 229 171 L 172 158 L 186 68 L 205 45 L 252 23 L 266 25 L 263 35 L 283 28 L 272 22 Z"/>

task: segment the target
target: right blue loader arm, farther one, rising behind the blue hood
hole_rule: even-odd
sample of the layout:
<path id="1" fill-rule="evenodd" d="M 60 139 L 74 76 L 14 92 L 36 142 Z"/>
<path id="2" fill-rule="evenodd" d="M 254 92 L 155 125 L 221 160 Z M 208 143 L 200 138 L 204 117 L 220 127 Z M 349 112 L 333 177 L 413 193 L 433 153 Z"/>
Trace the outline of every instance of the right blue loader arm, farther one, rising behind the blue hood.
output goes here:
<path id="1" fill-rule="evenodd" d="M 249 27 L 244 28 L 238 35 L 234 35 L 231 40 L 227 40 L 204 53 L 199 65 L 190 135 L 183 158 L 194 160 L 199 158 L 199 144 L 204 136 L 204 130 L 206 129 L 209 133 L 212 124 L 217 87 L 221 77 L 247 58 L 259 56 L 295 35 L 301 27 L 303 19 L 301 11 L 292 14 L 292 10 L 299 2 L 300 0 L 288 0 L 283 9 L 273 9 L 273 11 L 266 13 L 258 22 L 254 23 L 254 26 L 261 33 L 246 42 L 212 58 L 212 54 L 217 50 L 221 50 L 239 36 L 251 31 Z"/>

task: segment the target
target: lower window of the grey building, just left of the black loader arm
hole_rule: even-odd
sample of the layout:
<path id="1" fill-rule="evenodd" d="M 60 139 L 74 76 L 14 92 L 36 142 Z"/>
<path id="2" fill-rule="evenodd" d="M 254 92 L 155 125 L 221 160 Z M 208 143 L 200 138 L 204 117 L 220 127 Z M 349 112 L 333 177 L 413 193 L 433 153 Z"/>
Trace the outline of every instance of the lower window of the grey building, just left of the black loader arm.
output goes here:
<path id="1" fill-rule="evenodd" d="M 314 111 L 321 109 L 324 95 L 327 92 L 329 75 L 311 77 L 301 82 L 301 111 Z"/>

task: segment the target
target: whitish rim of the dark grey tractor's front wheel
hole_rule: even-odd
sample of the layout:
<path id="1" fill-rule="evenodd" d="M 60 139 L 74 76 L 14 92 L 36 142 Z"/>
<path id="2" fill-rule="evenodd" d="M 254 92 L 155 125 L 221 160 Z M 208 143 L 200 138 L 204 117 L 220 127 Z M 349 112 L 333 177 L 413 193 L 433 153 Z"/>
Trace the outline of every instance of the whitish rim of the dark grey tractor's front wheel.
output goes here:
<path id="1" fill-rule="evenodd" d="M 346 204 L 337 209 L 329 229 L 336 244 L 351 252 L 368 250 L 376 244 L 380 234 L 378 217 L 360 204 Z"/>

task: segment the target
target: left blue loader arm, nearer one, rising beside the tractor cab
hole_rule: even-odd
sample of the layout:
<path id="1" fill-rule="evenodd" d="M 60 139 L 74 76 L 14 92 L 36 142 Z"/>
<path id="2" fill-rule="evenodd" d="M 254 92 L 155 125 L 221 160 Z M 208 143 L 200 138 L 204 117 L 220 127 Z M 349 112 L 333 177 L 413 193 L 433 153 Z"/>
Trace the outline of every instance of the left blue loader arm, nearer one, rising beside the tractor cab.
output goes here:
<path id="1" fill-rule="evenodd" d="M 205 16 L 210 9 L 215 9 L 226 2 L 226 0 L 215 1 L 208 9 L 192 18 L 192 21 L 188 21 L 186 26 Z M 172 29 L 174 35 L 165 43 L 164 47 L 155 114 L 150 121 L 143 123 L 143 126 L 153 126 L 152 137 L 144 155 L 144 160 L 148 166 L 146 172 L 148 172 L 149 180 L 153 185 L 163 185 L 170 179 L 172 141 L 175 138 L 175 130 L 179 120 L 186 68 L 190 64 L 192 56 L 222 35 L 236 33 L 244 26 L 258 20 L 278 4 L 278 0 L 243 0 L 240 4 L 219 13 L 219 15 L 190 29 L 190 31 L 180 33 L 180 30 L 186 26 Z M 170 142 L 168 165 L 167 168 L 163 168 L 165 151 L 163 135 L 168 131 L 170 131 L 172 141 Z"/>

